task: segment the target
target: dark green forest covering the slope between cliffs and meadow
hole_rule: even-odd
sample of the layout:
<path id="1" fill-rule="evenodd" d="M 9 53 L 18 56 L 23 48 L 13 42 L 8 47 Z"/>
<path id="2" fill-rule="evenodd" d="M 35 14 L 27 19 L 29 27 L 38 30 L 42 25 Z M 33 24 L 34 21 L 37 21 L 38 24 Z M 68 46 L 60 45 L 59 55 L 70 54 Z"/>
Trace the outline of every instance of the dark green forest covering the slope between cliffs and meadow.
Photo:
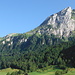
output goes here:
<path id="1" fill-rule="evenodd" d="M 73 66 L 71 61 L 63 58 L 64 56 L 62 51 L 65 52 L 65 49 L 75 45 L 73 42 L 75 40 L 74 38 L 72 40 L 70 38 L 70 42 L 62 42 L 61 44 L 59 43 L 52 46 L 49 45 L 49 42 L 47 41 L 48 37 L 46 36 L 44 36 L 45 38 L 39 38 L 36 35 L 32 37 L 28 40 L 27 45 L 25 43 L 22 43 L 21 45 L 17 44 L 13 49 L 11 49 L 11 47 L 6 48 L 4 46 L 4 50 L 0 50 L 1 69 L 11 67 L 21 69 L 26 72 L 33 72 L 37 69 L 41 69 L 50 65 L 58 65 L 61 67 L 61 65 L 66 66 L 70 64 Z"/>

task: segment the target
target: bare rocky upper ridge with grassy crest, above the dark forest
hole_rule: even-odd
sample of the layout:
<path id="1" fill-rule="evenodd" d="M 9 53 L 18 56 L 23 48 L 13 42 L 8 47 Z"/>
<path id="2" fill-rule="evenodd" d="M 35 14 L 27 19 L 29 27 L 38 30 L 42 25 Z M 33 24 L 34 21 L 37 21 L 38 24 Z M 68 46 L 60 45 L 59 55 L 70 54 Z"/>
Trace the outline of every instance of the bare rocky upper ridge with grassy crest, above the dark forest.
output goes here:
<path id="1" fill-rule="evenodd" d="M 18 42 L 27 42 L 29 37 L 36 35 L 36 36 L 42 36 L 47 35 L 49 37 L 55 36 L 54 38 L 63 39 L 66 38 L 68 41 L 68 38 L 74 35 L 75 32 L 75 20 L 72 18 L 72 15 L 75 15 L 74 9 L 72 10 L 71 7 L 67 7 L 58 13 L 55 13 L 51 16 L 49 16 L 41 25 L 39 25 L 37 28 L 23 34 L 19 33 L 11 33 L 6 35 L 5 37 L 1 38 L 0 41 L 3 39 L 6 39 L 6 42 L 8 41 L 13 42 L 14 37 L 18 38 L 18 36 L 22 36 L 22 39 L 20 39 Z M 26 37 L 26 38 L 25 38 Z M 53 38 L 52 38 L 53 39 Z M 53 41 L 52 39 L 49 39 L 50 42 Z M 5 44 L 5 41 L 2 41 L 3 44 Z M 49 41 L 48 40 L 48 41 Z"/>

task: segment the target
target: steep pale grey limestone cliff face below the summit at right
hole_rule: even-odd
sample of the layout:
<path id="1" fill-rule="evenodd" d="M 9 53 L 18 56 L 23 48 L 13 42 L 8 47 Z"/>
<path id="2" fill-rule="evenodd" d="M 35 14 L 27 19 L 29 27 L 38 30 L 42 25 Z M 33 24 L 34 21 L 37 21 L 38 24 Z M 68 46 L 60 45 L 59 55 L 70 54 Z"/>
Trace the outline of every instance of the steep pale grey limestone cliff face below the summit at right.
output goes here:
<path id="1" fill-rule="evenodd" d="M 37 29 L 39 34 L 54 34 L 59 37 L 68 37 L 75 30 L 75 20 L 72 19 L 71 7 L 49 16 Z M 34 33 L 36 33 L 34 32 Z"/>

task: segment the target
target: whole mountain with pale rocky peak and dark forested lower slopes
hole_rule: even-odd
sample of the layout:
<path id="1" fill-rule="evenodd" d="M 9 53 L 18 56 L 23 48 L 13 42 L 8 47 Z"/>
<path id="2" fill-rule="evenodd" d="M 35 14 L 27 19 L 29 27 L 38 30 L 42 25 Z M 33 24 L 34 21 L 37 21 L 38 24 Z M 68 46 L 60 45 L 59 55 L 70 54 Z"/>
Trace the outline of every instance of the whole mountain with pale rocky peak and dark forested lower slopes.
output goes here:
<path id="1" fill-rule="evenodd" d="M 72 65 L 65 50 L 74 46 L 74 41 L 75 9 L 68 7 L 27 33 L 0 38 L 0 66 L 35 71 L 49 65 Z"/>

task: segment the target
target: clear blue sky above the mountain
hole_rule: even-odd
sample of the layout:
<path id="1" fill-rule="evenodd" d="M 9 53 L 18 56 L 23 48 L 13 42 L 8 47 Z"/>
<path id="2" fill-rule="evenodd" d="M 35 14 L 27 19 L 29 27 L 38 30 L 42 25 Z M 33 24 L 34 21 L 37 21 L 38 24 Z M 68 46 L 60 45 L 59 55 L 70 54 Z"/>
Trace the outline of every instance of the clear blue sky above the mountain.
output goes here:
<path id="1" fill-rule="evenodd" d="M 0 0 L 0 37 L 28 32 L 68 6 L 75 0 Z"/>

